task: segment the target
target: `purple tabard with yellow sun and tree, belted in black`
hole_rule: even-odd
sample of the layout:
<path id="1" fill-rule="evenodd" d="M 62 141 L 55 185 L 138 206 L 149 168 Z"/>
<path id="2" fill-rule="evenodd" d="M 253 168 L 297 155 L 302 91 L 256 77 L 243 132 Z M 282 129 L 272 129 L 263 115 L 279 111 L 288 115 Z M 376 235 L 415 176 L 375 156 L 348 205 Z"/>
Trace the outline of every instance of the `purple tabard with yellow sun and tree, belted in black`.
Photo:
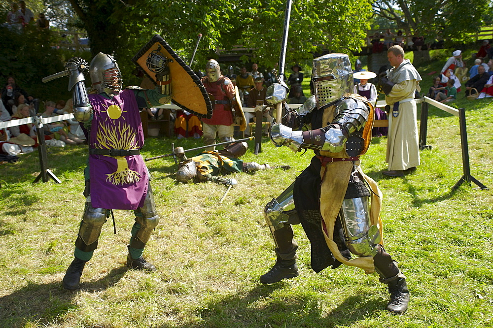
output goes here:
<path id="1" fill-rule="evenodd" d="M 94 112 L 89 148 L 141 149 L 141 116 L 134 92 L 125 89 L 107 99 L 89 95 Z M 148 173 L 141 155 L 89 155 L 91 202 L 95 208 L 137 209 L 147 194 Z"/>

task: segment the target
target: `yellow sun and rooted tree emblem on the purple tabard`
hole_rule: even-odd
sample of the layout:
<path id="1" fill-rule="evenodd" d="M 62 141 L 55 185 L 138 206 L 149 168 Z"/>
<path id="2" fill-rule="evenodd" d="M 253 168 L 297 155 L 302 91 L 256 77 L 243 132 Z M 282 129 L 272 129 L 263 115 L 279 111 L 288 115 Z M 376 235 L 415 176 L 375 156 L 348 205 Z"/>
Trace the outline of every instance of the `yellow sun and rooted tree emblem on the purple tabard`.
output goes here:
<path id="1" fill-rule="evenodd" d="M 108 115 L 110 115 L 109 109 L 111 107 L 118 106 L 109 106 Z M 128 124 L 121 121 L 115 126 L 110 124 L 106 125 L 103 123 L 101 128 L 96 133 L 96 139 L 101 149 L 136 149 L 137 141 L 135 140 L 135 136 L 136 131 Z M 128 168 L 128 162 L 124 156 L 114 157 L 114 159 L 116 159 L 117 163 L 116 171 L 106 174 L 106 181 L 109 181 L 116 186 L 123 186 L 136 183 L 141 180 L 141 175 L 138 172 L 132 171 Z"/>

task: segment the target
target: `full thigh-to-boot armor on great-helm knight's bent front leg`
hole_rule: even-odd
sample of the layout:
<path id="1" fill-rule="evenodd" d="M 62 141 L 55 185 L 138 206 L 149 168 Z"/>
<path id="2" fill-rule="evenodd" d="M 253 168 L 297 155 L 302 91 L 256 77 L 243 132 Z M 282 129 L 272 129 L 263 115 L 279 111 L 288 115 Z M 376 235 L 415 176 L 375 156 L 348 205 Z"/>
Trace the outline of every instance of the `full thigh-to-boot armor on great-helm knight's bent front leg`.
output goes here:
<path id="1" fill-rule="evenodd" d="M 292 224 L 299 224 L 298 212 L 294 207 L 294 182 L 277 198 L 272 199 L 264 209 L 264 217 L 269 226 L 276 254 L 282 260 L 296 259 L 298 244 L 293 240 Z"/>

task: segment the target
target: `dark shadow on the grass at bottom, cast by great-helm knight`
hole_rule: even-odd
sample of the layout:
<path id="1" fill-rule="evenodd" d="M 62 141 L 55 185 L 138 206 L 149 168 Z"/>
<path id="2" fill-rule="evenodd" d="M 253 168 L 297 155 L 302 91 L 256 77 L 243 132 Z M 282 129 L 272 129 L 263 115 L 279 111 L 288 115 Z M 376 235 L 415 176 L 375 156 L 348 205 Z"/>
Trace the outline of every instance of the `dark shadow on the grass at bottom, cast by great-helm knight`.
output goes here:
<path id="1" fill-rule="evenodd" d="M 271 294 L 286 288 L 289 287 L 285 282 L 258 285 L 246 295 L 237 293 L 214 299 L 197 311 L 200 323 L 179 327 L 349 327 L 387 304 L 372 295 L 353 295 L 327 314 L 316 293 L 271 298 Z"/>

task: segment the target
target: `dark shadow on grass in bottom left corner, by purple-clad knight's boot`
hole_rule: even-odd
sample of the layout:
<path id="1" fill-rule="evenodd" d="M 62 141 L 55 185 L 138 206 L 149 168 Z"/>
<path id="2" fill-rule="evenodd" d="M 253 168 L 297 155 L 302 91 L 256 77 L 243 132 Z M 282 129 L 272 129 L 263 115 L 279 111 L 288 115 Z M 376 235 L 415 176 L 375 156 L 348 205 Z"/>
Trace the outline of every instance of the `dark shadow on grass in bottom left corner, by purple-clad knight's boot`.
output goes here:
<path id="1" fill-rule="evenodd" d="M 86 292 L 99 292 L 118 283 L 128 268 L 120 267 L 111 270 L 101 279 L 82 283 L 81 289 Z M 48 284 L 28 283 L 12 294 L 0 297 L 0 327 L 24 327 L 28 322 L 36 322 L 50 326 L 58 325 L 64 315 L 78 307 L 73 301 L 77 291 L 66 291 L 62 282 Z"/>

